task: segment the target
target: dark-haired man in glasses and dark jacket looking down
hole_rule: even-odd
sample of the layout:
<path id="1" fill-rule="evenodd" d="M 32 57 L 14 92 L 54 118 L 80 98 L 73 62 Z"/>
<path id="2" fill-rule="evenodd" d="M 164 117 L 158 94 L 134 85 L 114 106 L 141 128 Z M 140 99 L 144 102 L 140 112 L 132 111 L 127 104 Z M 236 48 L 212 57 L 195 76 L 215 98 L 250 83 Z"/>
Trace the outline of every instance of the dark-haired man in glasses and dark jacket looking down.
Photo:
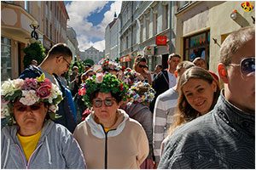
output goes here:
<path id="1" fill-rule="evenodd" d="M 73 133 L 73 130 L 76 127 L 76 122 L 73 113 L 68 106 L 65 86 L 61 83 L 59 77 L 61 74 L 68 71 L 72 58 L 72 51 L 67 47 L 67 44 L 57 43 L 49 49 L 49 53 L 40 65 L 30 65 L 25 71 L 21 72 L 19 77 L 21 79 L 36 78 L 44 73 L 45 77 L 48 78 L 50 82 L 59 86 L 63 100 L 58 105 L 59 110 L 57 111 L 57 114 L 61 117 L 55 119 L 55 122 L 67 127 L 71 133 Z"/>

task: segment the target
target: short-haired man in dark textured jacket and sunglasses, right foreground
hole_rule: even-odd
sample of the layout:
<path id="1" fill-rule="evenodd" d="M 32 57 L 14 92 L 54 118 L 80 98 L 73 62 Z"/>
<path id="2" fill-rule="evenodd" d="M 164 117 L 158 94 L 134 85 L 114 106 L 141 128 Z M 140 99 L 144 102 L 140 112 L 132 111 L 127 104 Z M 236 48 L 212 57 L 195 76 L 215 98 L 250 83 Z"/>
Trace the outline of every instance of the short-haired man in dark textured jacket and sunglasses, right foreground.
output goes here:
<path id="1" fill-rule="evenodd" d="M 224 89 L 212 111 L 172 133 L 159 168 L 255 168 L 255 28 L 232 32 L 220 48 Z"/>

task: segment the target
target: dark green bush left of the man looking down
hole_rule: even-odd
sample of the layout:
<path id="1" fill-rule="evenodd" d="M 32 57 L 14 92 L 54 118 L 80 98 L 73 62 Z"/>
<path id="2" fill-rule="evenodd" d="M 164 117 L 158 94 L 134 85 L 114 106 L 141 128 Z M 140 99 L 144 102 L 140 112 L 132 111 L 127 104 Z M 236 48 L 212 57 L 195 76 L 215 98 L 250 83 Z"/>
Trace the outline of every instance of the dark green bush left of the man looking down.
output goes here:
<path id="1" fill-rule="evenodd" d="M 35 59 L 38 61 L 38 65 L 44 60 L 46 57 L 45 49 L 41 43 L 34 42 L 31 43 L 26 48 L 22 48 L 23 52 L 25 53 L 24 59 L 23 59 L 23 65 L 24 68 L 28 67 L 32 59 Z"/>

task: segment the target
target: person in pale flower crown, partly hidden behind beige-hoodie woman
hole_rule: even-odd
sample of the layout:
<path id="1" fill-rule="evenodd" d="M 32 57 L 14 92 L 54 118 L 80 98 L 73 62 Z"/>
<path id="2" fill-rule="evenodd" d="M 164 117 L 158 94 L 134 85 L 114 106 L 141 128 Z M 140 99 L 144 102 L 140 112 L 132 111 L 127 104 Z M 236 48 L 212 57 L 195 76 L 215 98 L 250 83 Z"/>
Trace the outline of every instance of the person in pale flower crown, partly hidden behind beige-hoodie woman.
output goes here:
<path id="1" fill-rule="evenodd" d="M 149 154 L 141 165 L 142 169 L 154 168 L 152 113 L 148 108 L 149 103 L 154 99 L 154 94 L 154 89 L 148 82 L 135 82 L 127 92 L 129 102 L 124 107 L 131 118 L 142 124 L 148 137 Z"/>

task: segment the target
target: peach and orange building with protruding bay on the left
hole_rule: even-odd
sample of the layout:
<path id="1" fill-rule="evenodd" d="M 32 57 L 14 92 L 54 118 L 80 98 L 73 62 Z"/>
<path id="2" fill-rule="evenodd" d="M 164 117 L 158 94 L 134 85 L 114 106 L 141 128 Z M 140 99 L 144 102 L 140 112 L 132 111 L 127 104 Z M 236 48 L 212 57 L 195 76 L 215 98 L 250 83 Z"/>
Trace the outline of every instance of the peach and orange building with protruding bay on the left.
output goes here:
<path id="1" fill-rule="evenodd" d="M 38 40 L 46 52 L 67 42 L 67 10 L 62 1 L 1 1 L 1 81 L 19 77 L 22 48 L 30 43 L 32 22 L 38 22 Z"/>

